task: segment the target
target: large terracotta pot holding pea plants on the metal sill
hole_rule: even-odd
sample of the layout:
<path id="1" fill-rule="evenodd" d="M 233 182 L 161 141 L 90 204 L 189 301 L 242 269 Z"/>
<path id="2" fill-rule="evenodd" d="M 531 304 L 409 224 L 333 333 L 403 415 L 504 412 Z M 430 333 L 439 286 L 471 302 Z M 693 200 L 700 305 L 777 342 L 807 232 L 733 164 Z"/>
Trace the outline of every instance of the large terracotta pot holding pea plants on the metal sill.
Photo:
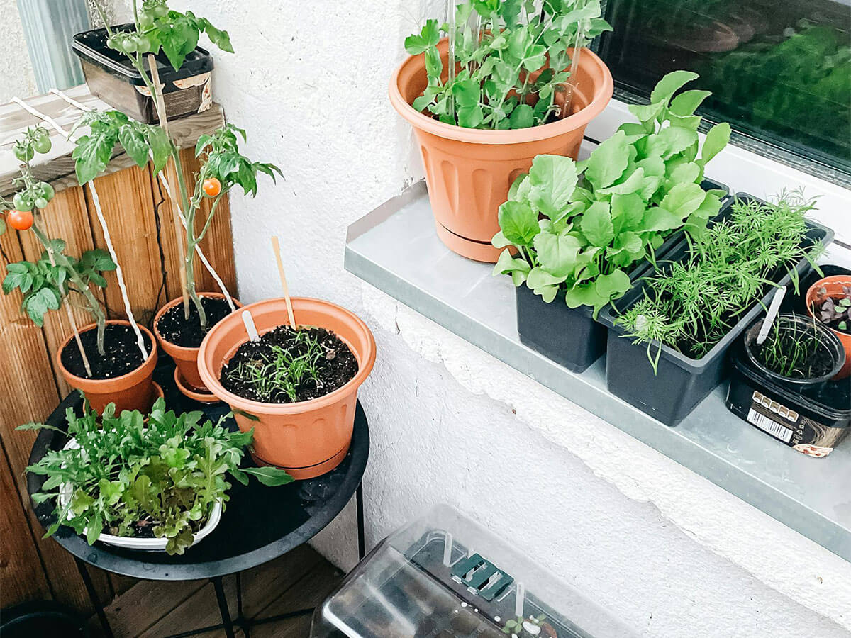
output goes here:
<path id="1" fill-rule="evenodd" d="M 446 38 L 438 48 L 448 72 Z M 586 48 L 581 49 L 576 77 L 574 112 L 568 117 L 543 126 L 494 131 L 438 122 L 411 106 L 426 88 L 424 54 L 408 57 L 393 74 L 390 101 L 414 126 L 437 235 L 448 248 L 470 259 L 495 262 L 501 249 L 490 240 L 500 230 L 500 204 L 517 175 L 526 173 L 537 155 L 576 159 L 585 126 L 603 111 L 614 90 L 608 67 Z"/>

